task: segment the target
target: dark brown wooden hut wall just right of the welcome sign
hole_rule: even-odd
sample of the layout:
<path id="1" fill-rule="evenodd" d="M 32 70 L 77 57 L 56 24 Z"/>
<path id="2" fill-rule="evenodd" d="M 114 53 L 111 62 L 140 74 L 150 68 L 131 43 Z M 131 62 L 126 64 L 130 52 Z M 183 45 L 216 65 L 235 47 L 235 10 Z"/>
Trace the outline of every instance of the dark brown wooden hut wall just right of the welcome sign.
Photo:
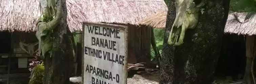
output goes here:
<path id="1" fill-rule="evenodd" d="M 150 64 L 151 28 L 131 24 L 110 24 L 128 26 L 128 63 L 146 62 Z"/>

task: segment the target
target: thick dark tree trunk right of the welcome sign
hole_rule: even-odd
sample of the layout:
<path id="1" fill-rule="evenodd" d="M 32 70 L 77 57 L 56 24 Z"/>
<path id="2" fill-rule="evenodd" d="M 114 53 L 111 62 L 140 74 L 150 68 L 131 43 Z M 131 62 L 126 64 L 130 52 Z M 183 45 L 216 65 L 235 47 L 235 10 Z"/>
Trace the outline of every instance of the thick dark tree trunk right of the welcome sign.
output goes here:
<path id="1" fill-rule="evenodd" d="M 175 19 L 175 0 L 168 6 L 160 84 L 211 84 L 218 61 L 229 0 L 206 0 L 197 27 L 188 30 L 184 44 L 168 45 Z"/>

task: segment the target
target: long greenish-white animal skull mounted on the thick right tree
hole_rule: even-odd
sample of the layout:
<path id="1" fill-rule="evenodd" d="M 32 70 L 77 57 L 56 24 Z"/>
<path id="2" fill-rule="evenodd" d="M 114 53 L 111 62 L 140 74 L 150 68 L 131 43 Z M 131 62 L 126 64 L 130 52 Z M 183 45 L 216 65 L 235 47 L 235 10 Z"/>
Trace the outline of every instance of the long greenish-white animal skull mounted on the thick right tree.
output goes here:
<path id="1" fill-rule="evenodd" d="M 194 29 L 198 23 L 200 7 L 204 5 L 204 0 L 196 5 L 195 0 L 176 0 L 176 17 L 169 35 L 168 44 L 181 45 L 185 32 Z"/>

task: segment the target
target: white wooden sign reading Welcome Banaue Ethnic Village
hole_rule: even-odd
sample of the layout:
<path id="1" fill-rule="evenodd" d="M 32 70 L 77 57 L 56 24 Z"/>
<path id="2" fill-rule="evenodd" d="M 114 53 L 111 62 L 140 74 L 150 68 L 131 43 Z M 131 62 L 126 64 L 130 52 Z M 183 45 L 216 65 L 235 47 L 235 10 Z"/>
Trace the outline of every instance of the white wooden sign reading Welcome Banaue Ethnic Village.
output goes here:
<path id="1" fill-rule="evenodd" d="M 83 23 L 83 84 L 127 84 L 127 28 Z"/>

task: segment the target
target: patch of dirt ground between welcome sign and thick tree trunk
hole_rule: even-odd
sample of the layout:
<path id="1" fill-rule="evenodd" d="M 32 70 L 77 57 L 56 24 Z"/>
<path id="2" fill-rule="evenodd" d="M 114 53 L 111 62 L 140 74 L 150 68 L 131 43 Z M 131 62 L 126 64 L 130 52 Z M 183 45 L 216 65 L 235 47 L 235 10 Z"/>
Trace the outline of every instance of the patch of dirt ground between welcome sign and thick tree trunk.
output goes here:
<path id="1" fill-rule="evenodd" d="M 132 78 L 127 79 L 127 84 L 159 84 L 160 73 L 155 71 L 143 75 L 135 74 Z"/>

